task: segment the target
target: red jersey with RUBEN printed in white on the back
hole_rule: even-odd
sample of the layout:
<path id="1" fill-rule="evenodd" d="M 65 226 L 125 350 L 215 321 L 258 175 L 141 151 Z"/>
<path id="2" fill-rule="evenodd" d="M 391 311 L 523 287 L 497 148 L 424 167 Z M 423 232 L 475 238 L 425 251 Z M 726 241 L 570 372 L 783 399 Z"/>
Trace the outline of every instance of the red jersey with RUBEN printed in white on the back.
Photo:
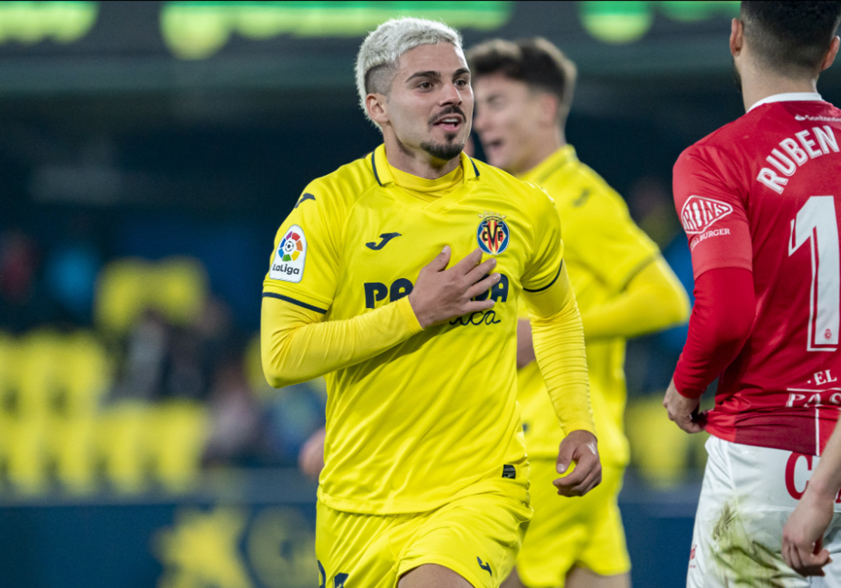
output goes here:
<path id="1" fill-rule="evenodd" d="M 841 110 L 778 94 L 685 150 L 674 200 L 696 279 L 743 268 L 756 317 L 719 378 L 706 430 L 819 455 L 841 407 Z"/>

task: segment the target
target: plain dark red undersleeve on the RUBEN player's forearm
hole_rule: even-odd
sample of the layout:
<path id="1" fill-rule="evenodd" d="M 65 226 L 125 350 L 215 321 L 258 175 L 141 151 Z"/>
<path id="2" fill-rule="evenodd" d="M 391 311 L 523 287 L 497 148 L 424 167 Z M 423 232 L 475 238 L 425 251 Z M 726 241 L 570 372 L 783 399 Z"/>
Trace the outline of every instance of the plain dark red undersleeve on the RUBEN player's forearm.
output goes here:
<path id="1" fill-rule="evenodd" d="M 736 359 L 754 326 L 754 275 L 739 268 L 705 271 L 695 282 L 689 335 L 674 370 L 674 387 L 701 396 Z"/>

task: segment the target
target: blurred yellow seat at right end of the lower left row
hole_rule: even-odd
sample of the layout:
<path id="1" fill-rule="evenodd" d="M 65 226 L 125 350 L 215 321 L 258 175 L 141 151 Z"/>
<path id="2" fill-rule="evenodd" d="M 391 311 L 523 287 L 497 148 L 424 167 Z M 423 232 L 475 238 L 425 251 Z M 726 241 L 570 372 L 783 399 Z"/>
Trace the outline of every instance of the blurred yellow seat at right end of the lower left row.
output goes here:
<path id="1" fill-rule="evenodd" d="M 209 417 L 198 402 L 170 401 L 154 407 L 147 443 L 156 479 L 167 490 L 188 491 L 198 480 Z"/>

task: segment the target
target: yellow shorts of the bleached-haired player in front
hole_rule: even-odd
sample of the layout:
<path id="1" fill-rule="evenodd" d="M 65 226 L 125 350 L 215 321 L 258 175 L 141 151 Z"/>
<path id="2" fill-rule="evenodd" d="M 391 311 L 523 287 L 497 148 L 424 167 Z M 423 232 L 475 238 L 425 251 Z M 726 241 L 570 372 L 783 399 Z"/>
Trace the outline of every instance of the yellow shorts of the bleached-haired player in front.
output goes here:
<path id="1" fill-rule="evenodd" d="M 443 565 L 476 588 L 496 588 L 514 567 L 532 517 L 522 478 L 484 482 L 489 491 L 430 512 L 370 515 L 336 511 L 319 502 L 315 555 L 320 588 L 342 588 L 345 582 L 348 587 L 394 588 L 402 575 L 422 564 Z"/>

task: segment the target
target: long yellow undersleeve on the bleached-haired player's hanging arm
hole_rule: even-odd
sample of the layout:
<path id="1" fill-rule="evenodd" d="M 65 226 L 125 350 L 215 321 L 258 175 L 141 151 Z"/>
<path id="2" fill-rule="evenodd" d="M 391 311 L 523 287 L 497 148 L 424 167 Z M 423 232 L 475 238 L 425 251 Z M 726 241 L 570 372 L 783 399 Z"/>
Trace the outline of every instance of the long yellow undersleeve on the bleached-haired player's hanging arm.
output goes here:
<path id="1" fill-rule="evenodd" d="M 550 291 L 526 296 L 537 364 L 564 432 L 595 434 L 584 329 L 566 271 Z"/>

